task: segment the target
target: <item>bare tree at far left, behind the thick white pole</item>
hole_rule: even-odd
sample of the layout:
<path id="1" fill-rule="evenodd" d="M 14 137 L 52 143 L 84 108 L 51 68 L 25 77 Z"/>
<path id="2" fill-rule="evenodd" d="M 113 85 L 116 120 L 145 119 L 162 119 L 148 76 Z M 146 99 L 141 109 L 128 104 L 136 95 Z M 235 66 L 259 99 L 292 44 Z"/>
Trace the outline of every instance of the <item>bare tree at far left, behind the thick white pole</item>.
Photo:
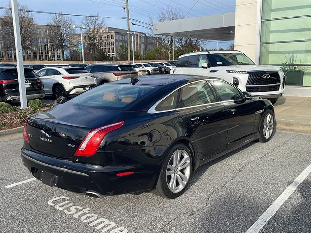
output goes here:
<path id="1" fill-rule="evenodd" d="M 6 50 L 15 50 L 14 43 L 14 30 L 13 30 L 13 18 L 12 18 L 12 7 L 11 4 L 7 6 L 8 9 L 4 10 L 4 25 L 7 26 L 6 36 L 10 39 L 6 43 Z M 18 17 L 19 17 L 19 27 L 21 35 L 21 47 L 23 50 L 33 50 L 35 47 L 35 38 L 37 33 L 33 30 L 34 17 L 33 14 L 29 12 L 26 5 L 18 4 Z"/>

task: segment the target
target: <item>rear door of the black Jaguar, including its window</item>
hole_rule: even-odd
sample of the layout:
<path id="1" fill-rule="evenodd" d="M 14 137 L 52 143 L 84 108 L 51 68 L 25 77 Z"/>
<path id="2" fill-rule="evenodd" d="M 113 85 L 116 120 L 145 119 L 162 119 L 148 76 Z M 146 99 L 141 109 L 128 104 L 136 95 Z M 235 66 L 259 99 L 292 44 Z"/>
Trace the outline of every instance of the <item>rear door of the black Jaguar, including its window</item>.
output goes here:
<path id="1" fill-rule="evenodd" d="M 187 134 L 192 137 L 201 159 L 226 149 L 227 113 L 206 80 L 181 88 L 177 112 L 183 118 Z"/>

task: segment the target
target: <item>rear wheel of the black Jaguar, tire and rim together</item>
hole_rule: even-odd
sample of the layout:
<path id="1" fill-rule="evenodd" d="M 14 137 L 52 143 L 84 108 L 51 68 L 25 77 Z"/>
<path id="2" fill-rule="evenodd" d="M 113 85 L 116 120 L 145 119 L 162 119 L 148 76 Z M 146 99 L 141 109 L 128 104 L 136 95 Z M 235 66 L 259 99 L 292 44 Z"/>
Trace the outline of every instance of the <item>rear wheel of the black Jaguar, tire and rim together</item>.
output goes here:
<path id="1" fill-rule="evenodd" d="M 179 197 L 186 191 L 191 173 L 191 152 L 184 144 L 178 143 L 168 150 L 152 193 L 168 199 Z"/>

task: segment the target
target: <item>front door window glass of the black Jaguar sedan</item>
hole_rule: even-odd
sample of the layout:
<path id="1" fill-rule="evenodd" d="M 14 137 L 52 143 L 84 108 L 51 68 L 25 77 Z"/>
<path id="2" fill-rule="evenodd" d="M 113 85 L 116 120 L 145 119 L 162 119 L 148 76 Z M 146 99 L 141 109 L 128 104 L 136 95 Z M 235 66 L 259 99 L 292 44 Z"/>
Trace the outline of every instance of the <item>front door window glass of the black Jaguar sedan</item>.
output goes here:
<path id="1" fill-rule="evenodd" d="M 240 100 L 242 98 L 241 92 L 229 83 L 220 80 L 211 80 L 209 82 L 213 85 L 222 101 Z"/>

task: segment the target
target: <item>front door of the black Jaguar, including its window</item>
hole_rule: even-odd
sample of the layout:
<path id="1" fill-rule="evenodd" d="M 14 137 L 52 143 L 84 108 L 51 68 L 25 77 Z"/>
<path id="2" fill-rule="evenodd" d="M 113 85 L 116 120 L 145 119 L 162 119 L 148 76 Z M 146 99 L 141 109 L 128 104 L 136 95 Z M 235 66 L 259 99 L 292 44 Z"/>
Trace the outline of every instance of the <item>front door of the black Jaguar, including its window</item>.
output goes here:
<path id="1" fill-rule="evenodd" d="M 255 105 L 253 100 L 242 97 L 234 85 L 222 80 L 209 80 L 218 98 L 226 109 L 228 117 L 227 149 L 254 138 Z"/>

